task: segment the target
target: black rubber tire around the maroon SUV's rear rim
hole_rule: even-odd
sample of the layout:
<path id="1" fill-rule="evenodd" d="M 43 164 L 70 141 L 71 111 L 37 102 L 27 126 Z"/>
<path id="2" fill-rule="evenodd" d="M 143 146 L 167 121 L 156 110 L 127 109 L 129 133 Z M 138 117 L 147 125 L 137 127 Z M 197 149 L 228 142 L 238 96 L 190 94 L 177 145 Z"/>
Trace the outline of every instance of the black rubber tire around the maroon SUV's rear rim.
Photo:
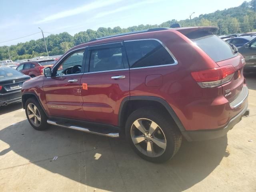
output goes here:
<path id="1" fill-rule="evenodd" d="M 178 130 L 178 127 L 172 120 L 169 120 L 164 114 L 161 114 L 157 111 L 158 110 L 156 110 L 154 108 L 144 107 L 144 108 L 140 108 L 140 109 L 132 112 L 132 114 L 130 114 L 130 116 L 128 117 L 128 119 L 126 121 L 125 132 L 126 132 L 126 139 L 132 146 L 132 149 L 140 157 L 142 157 L 143 159 L 148 160 L 150 162 L 162 163 L 162 162 L 166 162 L 167 160 L 170 160 L 178 152 L 178 150 L 181 146 L 181 142 L 182 142 L 182 134 L 180 133 L 180 130 Z M 132 127 L 134 126 L 133 125 L 134 122 L 139 119 L 148 119 L 148 120 L 154 121 L 158 125 L 158 130 L 160 128 L 161 132 L 165 136 L 166 148 L 160 156 L 156 156 L 156 157 L 154 157 L 154 155 L 147 156 L 147 155 L 145 155 L 145 152 L 143 153 L 143 152 L 141 152 L 142 150 L 138 150 L 138 148 L 135 146 L 136 144 L 133 143 Z M 152 122 L 151 122 L 151 124 L 152 124 Z M 151 126 L 151 124 L 150 124 L 150 126 Z M 146 133 L 146 134 L 148 134 L 148 133 Z M 143 134 L 140 137 L 143 137 Z M 147 138 L 147 139 L 150 140 L 150 138 Z M 142 142 L 146 142 L 146 145 L 148 146 L 148 140 L 144 140 Z M 142 142 L 140 142 L 140 144 L 144 145 L 144 143 L 142 143 Z M 150 141 L 150 142 L 152 143 L 152 141 Z M 146 148 L 147 148 L 147 146 L 146 146 Z M 151 145 L 151 147 L 152 147 L 152 145 Z M 152 148 L 154 148 L 154 147 L 152 147 Z"/>

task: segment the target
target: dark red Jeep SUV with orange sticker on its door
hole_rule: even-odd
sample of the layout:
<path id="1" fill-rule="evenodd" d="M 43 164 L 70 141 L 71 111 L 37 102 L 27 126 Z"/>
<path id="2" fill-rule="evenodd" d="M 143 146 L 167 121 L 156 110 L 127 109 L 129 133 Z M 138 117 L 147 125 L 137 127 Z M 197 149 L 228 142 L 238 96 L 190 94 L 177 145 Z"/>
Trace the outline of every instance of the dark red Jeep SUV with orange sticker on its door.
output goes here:
<path id="1" fill-rule="evenodd" d="M 28 121 L 36 130 L 124 133 L 152 162 L 172 158 L 182 136 L 224 136 L 248 114 L 248 88 L 244 58 L 217 29 L 155 28 L 78 45 L 24 82 Z"/>

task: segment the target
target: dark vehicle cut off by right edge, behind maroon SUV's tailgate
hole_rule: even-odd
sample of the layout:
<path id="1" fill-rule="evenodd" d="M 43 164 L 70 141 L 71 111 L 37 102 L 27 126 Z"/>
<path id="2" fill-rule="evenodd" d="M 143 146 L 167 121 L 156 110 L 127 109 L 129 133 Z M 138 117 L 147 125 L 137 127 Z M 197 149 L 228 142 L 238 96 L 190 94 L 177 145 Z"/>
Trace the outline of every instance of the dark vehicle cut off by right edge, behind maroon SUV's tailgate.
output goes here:
<path id="1" fill-rule="evenodd" d="M 244 56 L 244 72 L 256 72 L 256 36 L 250 42 L 238 48 L 238 51 Z"/>

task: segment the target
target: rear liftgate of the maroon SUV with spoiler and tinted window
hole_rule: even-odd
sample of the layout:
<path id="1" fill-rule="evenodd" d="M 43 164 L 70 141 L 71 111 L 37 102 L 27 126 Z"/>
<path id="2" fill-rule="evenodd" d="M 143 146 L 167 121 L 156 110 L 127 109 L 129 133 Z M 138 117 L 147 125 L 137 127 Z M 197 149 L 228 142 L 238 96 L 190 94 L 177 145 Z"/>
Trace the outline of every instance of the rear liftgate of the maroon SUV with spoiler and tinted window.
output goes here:
<path id="1" fill-rule="evenodd" d="M 216 80 L 221 81 L 219 86 L 222 86 L 222 94 L 224 97 L 229 102 L 232 102 L 238 97 L 243 88 L 243 66 L 245 65 L 245 62 L 242 55 L 238 53 L 236 47 L 214 35 L 214 32 L 216 32 L 217 29 L 218 28 L 216 27 L 199 27 L 179 31 L 190 38 L 190 40 L 218 64 L 220 68 L 210 70 L 212 72 L 219 70 L 219 74 L 221 74 L 222 78 Z M 210 83 L 206 85 L 210 85 Z"/>

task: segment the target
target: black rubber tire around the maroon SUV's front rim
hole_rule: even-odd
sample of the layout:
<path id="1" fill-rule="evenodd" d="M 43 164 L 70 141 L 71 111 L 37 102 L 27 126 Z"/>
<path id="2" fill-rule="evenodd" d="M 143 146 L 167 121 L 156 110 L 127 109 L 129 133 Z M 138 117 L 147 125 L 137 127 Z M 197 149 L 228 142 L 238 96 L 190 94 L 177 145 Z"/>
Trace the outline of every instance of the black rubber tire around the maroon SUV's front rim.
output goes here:
<path id="1" fill-rule="evenodd" d="M 39 114 L 40 114 L 40 117 L 41 117 L 41 121 L 40 121 L 40 124 L 39 126 L 35 126 L 31 120 L 29 119 L 28 117 L 28 105 L 29 104 L 33 104 L 36 106 L 36 108 L 38 109 L 39 111 Z M 47 123 L 47 116 L 46 114 L 44 113 L 44 110 L 42 109 L 41 105 L 39 104 L 38 100 L 35 99 L 35 98 L 29 98 L 27 101 L 26 101 L 26 104 L 25 104 L 25 112 L 26 112 L 26 116 L 28 118 L 28 122 L 30 123 L 30 125 L 36 129 L 36 130 L 39 130 L 39 131 L 42 131 L 42 130 L 45 130 L 49 127 L 49 124 Z"/>

